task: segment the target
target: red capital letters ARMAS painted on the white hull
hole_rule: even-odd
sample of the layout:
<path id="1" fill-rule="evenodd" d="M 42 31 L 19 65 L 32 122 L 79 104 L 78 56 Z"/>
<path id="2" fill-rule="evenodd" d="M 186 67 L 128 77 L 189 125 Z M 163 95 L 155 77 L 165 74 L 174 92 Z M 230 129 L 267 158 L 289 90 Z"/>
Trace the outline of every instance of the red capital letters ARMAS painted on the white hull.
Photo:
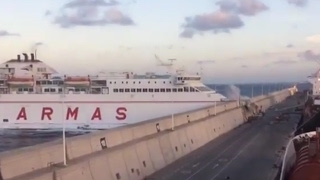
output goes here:
<path id="1" fill-rule="evenodd" d="M 66 120 L 77 120 L 80 112 L 79 107 L 70 108 L 68 107 L 66 111 Z M 126 107 L 118 107 L 115 111 L 116 118 L 119 121 L 125 120 L 127 118 L 127 108 Z M 41 120 L 52 120 L 54 114 L 54 110 L 51 107 L 43 107 L 41 111 Z M 17 115 L 17 120 L 27 120 L 27 111 L 25 107 L 22 107 Z M 102 112 L 100 107 L 96 107 L 91 115 L 91 120 L 102 120 Z"/>

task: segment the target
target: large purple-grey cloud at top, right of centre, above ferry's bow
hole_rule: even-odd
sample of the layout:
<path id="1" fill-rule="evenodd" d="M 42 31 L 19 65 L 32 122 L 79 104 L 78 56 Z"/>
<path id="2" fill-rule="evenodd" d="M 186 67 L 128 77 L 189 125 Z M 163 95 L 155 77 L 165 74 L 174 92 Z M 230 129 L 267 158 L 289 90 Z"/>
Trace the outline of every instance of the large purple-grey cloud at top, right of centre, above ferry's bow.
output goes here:
<path id="1" fill-rule="evenodd" d="M 258 0 L 222 0 L 216 5 L 220 8 L 218 11 L 186 17 L 180 37 L 192 38 L 195 34 L 205 32 L 230 33 L 230 30 L 244 26 L 240 15 L 255 16 L 268 10 Z"/>

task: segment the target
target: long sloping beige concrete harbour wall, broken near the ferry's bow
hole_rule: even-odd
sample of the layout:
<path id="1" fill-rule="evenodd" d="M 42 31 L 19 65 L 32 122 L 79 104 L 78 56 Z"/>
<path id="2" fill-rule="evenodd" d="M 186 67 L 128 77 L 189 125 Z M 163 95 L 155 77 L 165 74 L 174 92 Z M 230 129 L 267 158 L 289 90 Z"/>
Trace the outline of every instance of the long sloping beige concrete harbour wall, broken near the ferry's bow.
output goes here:
<path id="1" fill-rule="evenodd" d="M 251 101 L 265 110 L 294 93 Z M 0 180 L 141 180 L 246 122 L 252 111 L 226 102 L 147 122 L 0 153 Z"/>

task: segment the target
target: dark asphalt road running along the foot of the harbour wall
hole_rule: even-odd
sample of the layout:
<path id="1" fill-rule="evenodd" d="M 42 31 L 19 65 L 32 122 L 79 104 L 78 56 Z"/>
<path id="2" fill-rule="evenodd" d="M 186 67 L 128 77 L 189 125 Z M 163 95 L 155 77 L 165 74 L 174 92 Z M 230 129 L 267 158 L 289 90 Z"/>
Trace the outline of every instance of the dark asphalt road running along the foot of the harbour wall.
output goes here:
<path id="1" fill-rule="evenodd" d="M 292 100 L 291 100 L 292 101 Z M 280 109 L 292 105 L 279 104 Z M 154 173 L 154 180 L 268 180 L 279 150 L 288 141 L 298 122 L 298 115 L 289 121 L 270 124 L 278 113 L 269 110 L 265 117 L 240 126 L 200 149 Z M 273 170 L 273 171 L 272 171 Z"/>

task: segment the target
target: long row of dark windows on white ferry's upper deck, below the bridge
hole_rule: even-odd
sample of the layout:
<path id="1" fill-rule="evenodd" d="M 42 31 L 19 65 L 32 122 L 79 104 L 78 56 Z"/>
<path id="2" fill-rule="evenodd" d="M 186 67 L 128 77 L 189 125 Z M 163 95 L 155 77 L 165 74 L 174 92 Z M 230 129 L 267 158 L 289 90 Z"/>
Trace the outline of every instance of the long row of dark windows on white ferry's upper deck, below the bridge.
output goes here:
<path id="1" fill-rule="evenodd" d="M 194 89 L 193 87 L 183 87 L 183 88 L 120 88 L 120 89 L 113 89 L 113 92 L 115 93 L 123 93 L 123 92 L 196 92 L 197 90 Z"/>

